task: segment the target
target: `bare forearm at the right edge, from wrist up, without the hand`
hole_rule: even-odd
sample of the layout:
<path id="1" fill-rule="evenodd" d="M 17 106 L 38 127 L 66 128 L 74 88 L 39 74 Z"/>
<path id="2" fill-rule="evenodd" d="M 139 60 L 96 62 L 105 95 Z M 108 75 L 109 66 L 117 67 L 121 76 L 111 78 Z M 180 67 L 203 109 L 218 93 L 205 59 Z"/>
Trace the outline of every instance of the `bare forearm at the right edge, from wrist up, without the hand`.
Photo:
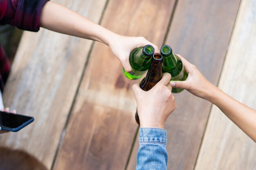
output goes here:
<path id="1" fill-rule="evenodd" d="M 256 142 L 256 111 L 236 101 L 217 87 L 212 89 L 207 100 L 218 106 L 231 121 Z"/>

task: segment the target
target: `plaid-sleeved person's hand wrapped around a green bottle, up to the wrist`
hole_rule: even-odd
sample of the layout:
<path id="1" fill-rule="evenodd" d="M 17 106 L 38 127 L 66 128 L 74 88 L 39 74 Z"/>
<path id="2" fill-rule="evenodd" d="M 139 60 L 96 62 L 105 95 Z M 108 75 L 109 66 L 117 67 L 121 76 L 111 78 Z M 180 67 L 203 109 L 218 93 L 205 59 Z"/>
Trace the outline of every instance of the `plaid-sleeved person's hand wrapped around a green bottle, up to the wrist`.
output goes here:
<path id="1" fill-rule="evenodd" d="M 132 67 L 130 66 L 129 61 L 130 53 L 133 49 L 136 49 L 140 46 L 145 46 L 147 44 L 152 45 L 155 49 L 155 52 L 159 53 L 158 47 L 146 40 L 144 37 L 127 37 L 115 34 L 115 36 L 111 38 L 111 41 L 108 45 L 110 46 L 112 53 L 121 61 L 124 69 L 127 72 L 131 72 Z"/>

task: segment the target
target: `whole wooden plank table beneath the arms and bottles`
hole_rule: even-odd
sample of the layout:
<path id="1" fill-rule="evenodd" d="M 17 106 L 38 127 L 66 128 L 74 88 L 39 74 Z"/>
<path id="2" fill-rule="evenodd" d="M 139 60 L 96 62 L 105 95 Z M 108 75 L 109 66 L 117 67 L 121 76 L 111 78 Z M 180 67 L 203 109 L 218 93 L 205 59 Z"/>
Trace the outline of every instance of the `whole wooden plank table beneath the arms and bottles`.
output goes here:
<path id="1" fill-rule="evenodd" d="M 256 109 L 256 0 L 55 0 L 116 33 L 144 36 Z M 132 82 L 108 46 L 25 32 L 4 104 L 35 122 L 0 136 L 52 170 L 135 170 Z M 253 170 L 256 144 L 216 106 L 183 91 L 166 122 L 168 170 Z"/>

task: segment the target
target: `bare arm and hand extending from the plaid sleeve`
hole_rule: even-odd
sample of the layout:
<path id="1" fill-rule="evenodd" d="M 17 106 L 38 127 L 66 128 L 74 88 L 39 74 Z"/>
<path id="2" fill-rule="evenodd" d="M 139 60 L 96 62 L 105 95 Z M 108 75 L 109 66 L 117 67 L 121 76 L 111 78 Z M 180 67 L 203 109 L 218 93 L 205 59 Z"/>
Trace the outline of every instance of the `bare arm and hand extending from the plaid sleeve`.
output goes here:
<path id="1" fill-rule="evenodd" d="M 143 37 L 127 37 L 113 33 L 82 15 L 50 1 L 42 9 L 40 26 L 58 33 L 99 41 L 110 46 L 114 55 L 128 72 L 132 71 L 129 55 L 133 49 L 151 44 L 156 52 L 159 51 L 156 45 Z"/>

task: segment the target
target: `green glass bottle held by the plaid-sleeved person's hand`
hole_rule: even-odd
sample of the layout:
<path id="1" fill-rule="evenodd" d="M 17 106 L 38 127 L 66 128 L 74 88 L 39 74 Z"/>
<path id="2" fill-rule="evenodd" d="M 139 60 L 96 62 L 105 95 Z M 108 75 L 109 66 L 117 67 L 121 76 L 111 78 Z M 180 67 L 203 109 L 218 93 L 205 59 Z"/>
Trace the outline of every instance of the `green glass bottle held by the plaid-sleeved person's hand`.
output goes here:
<path id="1" fill-rule="evenodd" d="M 123 67 L 123 73 L 128 79 L 141 78 L 150 66 L 150 61 L 155 49 L 152 45 L 146 45 L 144 47 L 138 47 L 130 53 L 130 65 L 132 67 L 132 73 L 125 71 Z"/>

